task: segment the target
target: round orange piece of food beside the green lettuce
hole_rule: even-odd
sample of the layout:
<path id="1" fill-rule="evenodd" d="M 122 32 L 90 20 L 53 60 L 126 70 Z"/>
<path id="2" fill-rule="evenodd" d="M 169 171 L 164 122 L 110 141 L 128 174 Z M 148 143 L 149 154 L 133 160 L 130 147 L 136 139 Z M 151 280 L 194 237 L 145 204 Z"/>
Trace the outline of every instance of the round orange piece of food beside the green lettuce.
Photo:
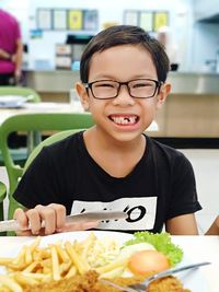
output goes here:
<path id="1" fill-rule="evenodd" d="M 129 270 L 137 276 L 149 272 L 160 272 L 170 268 L 169 259 L 157 250 L 140 250 L 134 254 L 128 261 Z"/>

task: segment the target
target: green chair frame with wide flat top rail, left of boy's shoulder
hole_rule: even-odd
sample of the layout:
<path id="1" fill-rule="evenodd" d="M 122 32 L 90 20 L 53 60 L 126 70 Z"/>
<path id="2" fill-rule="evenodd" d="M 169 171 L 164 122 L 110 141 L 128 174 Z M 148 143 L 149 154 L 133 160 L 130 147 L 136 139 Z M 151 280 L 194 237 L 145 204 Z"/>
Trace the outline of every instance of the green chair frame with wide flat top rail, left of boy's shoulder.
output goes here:
<path id="1" fill-rule="evenodd" d="M 93 126 L 92 117 L 89 113 L 37 113 L 20 114 L 4 120 L 0 126 L 0 149 L 3 155 L 4 165 L 9 176 L 9 210 L 8 218 L 13 218 L 13 212 L 18 208 L 18 202 L 13 199 L 19 179 L 22 177 L 24 168 L 15 164 L 8 148 L 8 136 L 13 131 L 65 131 L 87 129 Z M 42 142 L 44 143 L 44 141 Z"/>

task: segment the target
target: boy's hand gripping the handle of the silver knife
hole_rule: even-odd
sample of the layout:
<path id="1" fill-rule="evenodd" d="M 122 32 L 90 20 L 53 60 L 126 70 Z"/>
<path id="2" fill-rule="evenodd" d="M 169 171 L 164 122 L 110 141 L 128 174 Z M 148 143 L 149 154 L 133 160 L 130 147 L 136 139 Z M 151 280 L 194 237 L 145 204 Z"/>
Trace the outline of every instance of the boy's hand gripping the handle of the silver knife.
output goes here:
<path id="1" fill-rule="evenodd" d="M 89 223 L 66 223 L 66 208 L 62 205 L 50 203 L 48 206 L 37 205 L 34 209 L 24 211 L 16 209 L 14 219 L 20 223 L 22 229 L 31 230 L 20 231 L 16 234 L 28 235 L 48 235 L 56 232 L 81 231 L 95 227 L 99 222 Z M 42 221 L 45 227 L 42 229 Z"/>

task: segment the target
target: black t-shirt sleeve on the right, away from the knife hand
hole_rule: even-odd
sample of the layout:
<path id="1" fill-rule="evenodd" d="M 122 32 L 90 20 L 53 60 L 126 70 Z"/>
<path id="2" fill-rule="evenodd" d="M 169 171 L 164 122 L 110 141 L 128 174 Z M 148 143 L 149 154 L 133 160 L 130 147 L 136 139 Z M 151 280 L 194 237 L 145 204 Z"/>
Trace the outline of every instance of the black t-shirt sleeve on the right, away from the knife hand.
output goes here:
<path id="1" fill-rule="evenodd" d="M 194 170 L 184 154 L 178 155 L 174 163 L 169 206 L 168 219 L 201 209 L 197 198 Z"/>

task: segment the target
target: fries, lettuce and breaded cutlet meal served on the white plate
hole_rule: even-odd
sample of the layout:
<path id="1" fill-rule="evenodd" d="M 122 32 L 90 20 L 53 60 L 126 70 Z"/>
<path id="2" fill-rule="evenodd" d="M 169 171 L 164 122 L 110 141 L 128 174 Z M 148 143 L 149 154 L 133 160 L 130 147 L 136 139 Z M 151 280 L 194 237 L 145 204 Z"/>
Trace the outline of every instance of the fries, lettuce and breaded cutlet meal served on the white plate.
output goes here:
<path id="1" fill-rule="evenodd" d="M 80 242 L 51 241 L 47 245 L 43 245 L 38 236 L 32 244 L 23 246 L 16 257 L 0 258 L 0 265 L 5 267 L 5 273 L 0 275 L 0 292 L 118 291 L 103 285 L 100 279 L 127 287 L 154 273 L 154 261 L 159 262 L 159 269 L 161 266 L 164 269 L 178 262 L 183 255 L 181 248 L 171 243 L 169 234 L 137 233 L 123 245 L 110 236 L 88 234 Z M 162 292 L 186 291 L 176 278 L 165 279 L 152 283 L 150 289 L 162 284 L 166 285 Z M 171 290 L 171 287 L 176 289 Z"/>

